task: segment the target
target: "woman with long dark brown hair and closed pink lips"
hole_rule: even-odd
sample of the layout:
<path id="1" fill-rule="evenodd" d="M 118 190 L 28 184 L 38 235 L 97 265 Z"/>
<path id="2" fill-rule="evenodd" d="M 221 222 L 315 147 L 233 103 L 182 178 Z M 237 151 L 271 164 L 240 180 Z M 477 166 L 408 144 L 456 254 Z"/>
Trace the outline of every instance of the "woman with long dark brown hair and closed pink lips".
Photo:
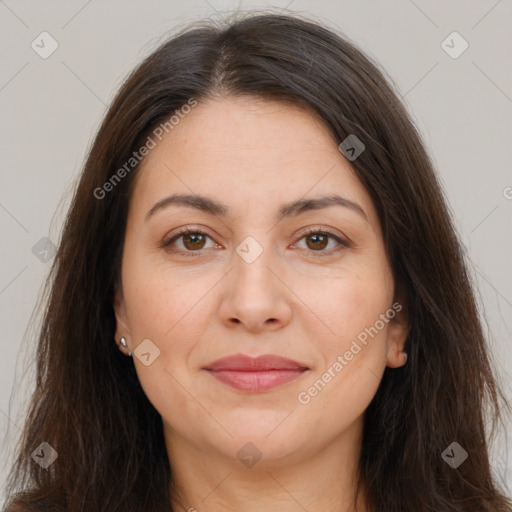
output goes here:
<path id="1" fill-rule="evenodd" d="M 235 17 L 150 55 L 52 271 L 10 512 L 512 510 L 432 164 L 318 24 Z"/>

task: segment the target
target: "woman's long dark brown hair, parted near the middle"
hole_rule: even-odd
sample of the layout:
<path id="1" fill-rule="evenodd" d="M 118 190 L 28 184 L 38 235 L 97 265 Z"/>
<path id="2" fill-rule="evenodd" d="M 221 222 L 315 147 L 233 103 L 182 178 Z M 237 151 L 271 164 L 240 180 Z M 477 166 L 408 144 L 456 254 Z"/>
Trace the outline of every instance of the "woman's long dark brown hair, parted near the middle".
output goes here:
<path id="1" fill-rule="evenodd" d="M 486 430 L 489 418 L 493 427 L 501 418 L 503 394 L 464 249 L 418 131 L 378 65 L 353 43 L 303 17 L 272 13 L 187 27 L 131 73 L 108 109 L 47 282 L 9 510 L 170 510 L 160 415 L 113 340 L 138 166 L 108 193 L 95 191 L 174 111 L 216 94 L 291 101 L 319 114 L 337 144 L 355 134 L 365 145 L 352 166 L 378 212 L 411 323 L 407 365 L 386 368 L 365 413 L 360 482 L 371 510 L 511 510 L 491 474 Z M 58 452 L 48 469 L 30 457 L 43 441 Z M 468 453 L 457 469 L 442 457 L 454 441 Z"/>

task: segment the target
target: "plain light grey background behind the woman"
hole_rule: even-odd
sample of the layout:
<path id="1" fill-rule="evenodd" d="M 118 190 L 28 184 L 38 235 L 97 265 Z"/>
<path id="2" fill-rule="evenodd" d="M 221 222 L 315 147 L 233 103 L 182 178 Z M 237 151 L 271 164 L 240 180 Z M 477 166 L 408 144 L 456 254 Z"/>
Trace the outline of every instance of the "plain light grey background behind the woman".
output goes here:
<path id="1" fill-rule="evenodd" d="M 285 7 L 348 36 L 380 63 L 403 96 L 445 186 L 488 319 L 492 356 L 512 398 L 510 0 L 5 0 L 0 1 L 0 486 L 33 383 L 36 338 L 27 326 L 50 265 L 33 247 L 44 237 L 58 241 L 74 180 L 106 105 L 125 75 L 183 24 L 237 8 Z M 43 31 L 59 45 L 47 59 L 31 47 Z M 469 45 L 458 58 L 442 46 L 454 31 Z M 452 53 L 463 48 L 457 37 L 445 43 Z M 504 435 L 494 444 L 493 467 L 510 495 L 508 444 Z"/>

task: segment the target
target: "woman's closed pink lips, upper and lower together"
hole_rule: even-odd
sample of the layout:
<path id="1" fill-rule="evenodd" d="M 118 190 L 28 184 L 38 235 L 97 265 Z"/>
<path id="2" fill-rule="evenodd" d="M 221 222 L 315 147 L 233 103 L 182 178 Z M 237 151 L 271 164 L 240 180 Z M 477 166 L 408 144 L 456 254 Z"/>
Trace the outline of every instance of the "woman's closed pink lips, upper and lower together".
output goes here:
<path id="1" fill-rule="evenodd" d="M 299 378 L 309 370 L 297 361 L 274 355 L 244 354 L 219 359 L 204 368 L 221 382 L 241 391 L 261 392 Z"/>

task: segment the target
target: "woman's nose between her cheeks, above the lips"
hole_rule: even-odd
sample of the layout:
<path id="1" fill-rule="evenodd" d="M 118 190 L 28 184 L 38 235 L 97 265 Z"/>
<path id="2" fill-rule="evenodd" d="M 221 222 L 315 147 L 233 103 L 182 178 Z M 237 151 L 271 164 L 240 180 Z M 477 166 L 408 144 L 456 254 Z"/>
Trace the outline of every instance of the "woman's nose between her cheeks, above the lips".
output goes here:
<path id="1" fill-rule="evenodd" d="M 248 251 L 244 253 L 244 249 Z M 230 328 L 238 326 L 253 333 L 275 331 L 292 318 L 293 293 L 284 270 L 271 250 L 261 249 L 254 259 L 256 248 L 250 243 L 240 244 L 233 254 L 232 269 L 223 279 L 219 314 Z"/>

